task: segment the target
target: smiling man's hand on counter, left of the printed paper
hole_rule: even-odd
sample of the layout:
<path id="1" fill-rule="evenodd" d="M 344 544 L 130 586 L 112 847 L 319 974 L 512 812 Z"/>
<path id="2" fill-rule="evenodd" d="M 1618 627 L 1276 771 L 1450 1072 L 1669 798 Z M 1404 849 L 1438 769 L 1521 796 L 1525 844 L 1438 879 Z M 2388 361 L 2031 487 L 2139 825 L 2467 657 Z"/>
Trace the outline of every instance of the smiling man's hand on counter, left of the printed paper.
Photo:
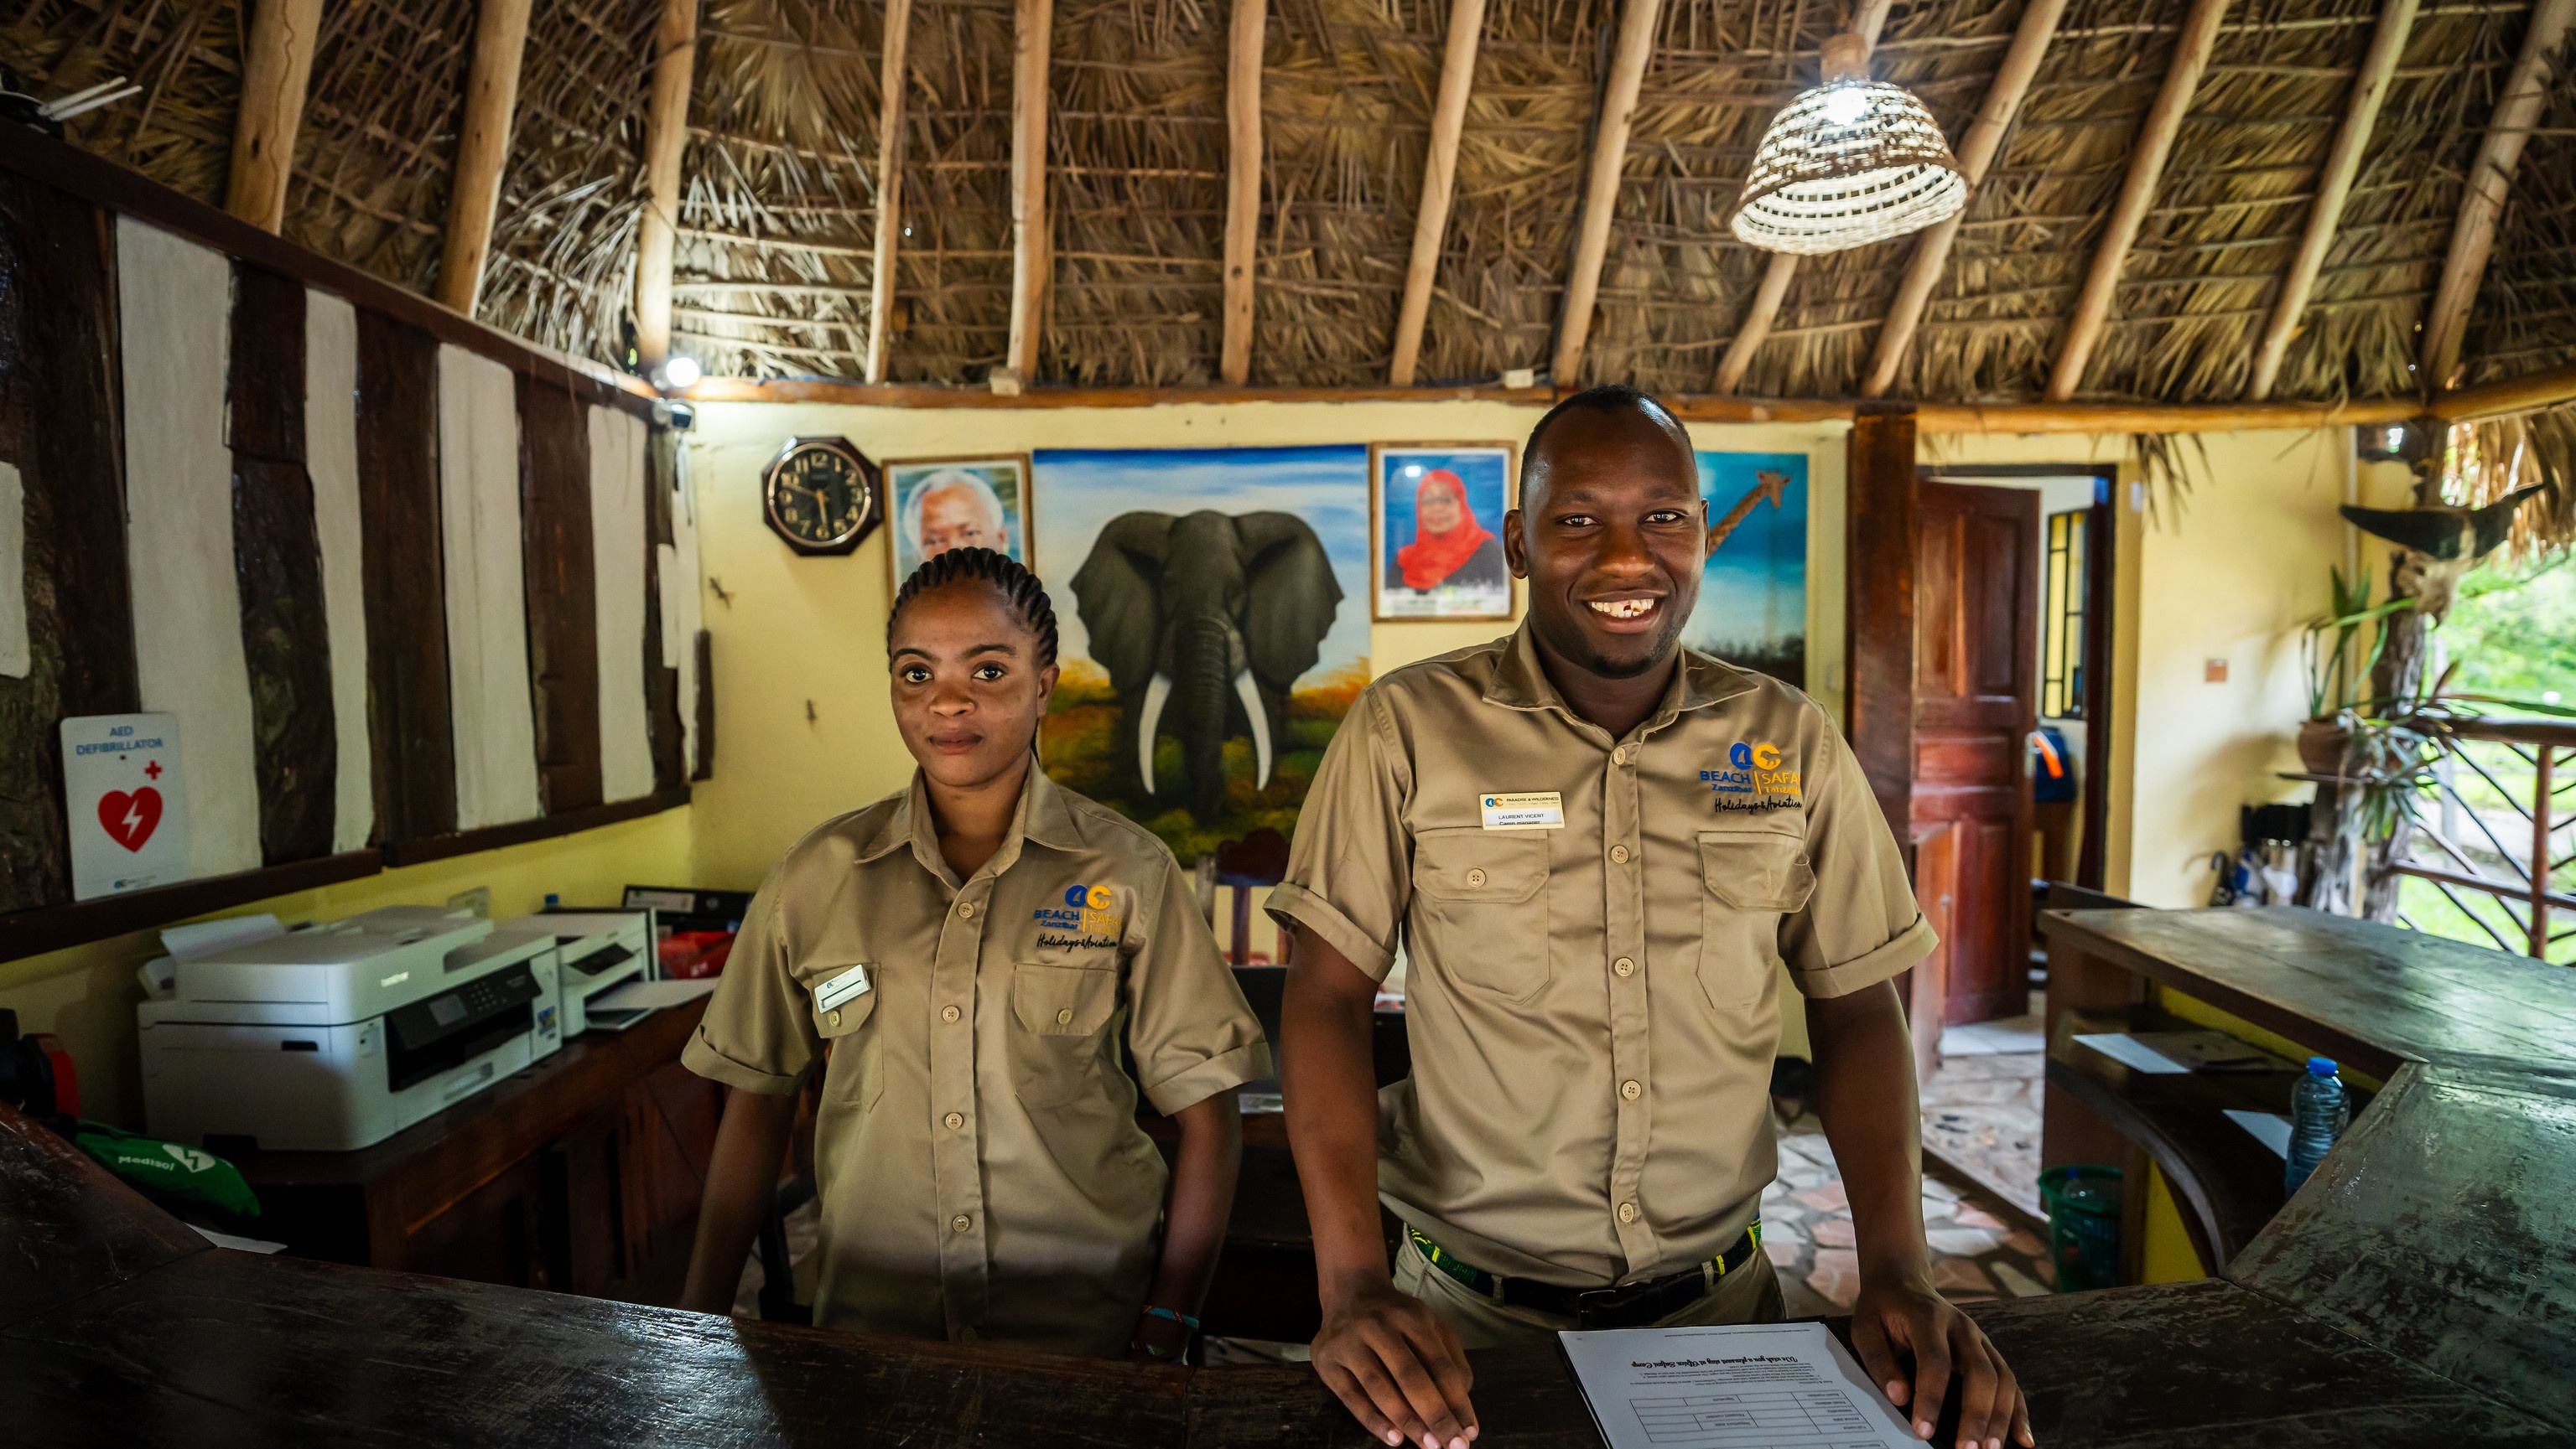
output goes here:
<path id="1" fill-rule="evenodd" d="M 1386 1444 L 1466 1449 L 1476 1439 L 1476 1408 L 1466 1398 L 1476 1374 L 1458 1336 L 1383 1277 L 1324 1307 L 1314 1372 Z"/>

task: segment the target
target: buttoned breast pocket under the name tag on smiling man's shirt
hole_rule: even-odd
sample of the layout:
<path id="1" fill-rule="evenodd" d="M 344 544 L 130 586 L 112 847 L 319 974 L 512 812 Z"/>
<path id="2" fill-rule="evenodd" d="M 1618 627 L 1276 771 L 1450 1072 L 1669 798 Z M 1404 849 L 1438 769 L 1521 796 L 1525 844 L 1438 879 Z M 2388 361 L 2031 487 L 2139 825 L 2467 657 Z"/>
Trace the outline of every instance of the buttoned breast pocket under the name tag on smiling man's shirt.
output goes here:
<path id="1" fill-rule="evenodd" d="M 1445 975 L 1528 1001 L 1548 986 L 1548 836 L 1414 836 L 1414 950 Z"/>

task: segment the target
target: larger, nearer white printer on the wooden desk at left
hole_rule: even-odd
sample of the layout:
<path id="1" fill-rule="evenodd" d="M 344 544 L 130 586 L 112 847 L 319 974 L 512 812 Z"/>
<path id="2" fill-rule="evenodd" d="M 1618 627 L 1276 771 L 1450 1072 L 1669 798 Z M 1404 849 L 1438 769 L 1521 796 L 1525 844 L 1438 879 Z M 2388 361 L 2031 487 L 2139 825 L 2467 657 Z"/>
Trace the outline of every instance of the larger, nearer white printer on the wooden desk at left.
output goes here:
<path id="1" fill-rule="evenodd" d="M 180 957 L 134 1009 L 157 1138 L 353 1150 L 526 1068 L 562 1006 L 551 942 L 389 906 Z"/>

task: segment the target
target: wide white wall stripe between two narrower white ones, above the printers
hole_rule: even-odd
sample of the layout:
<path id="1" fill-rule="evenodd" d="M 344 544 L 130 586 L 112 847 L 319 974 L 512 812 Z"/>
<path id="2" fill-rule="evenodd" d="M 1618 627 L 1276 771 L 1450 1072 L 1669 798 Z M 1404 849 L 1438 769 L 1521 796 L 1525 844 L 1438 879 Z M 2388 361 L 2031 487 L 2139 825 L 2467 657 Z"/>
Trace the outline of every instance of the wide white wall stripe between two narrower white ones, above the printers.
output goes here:
<path id="1" fill-rule="evenodd" d="M 538 816 L 528 579 L 518 515 L 518 378 L 438 347 L 438 522 L 448 584 L 456 829 Z"/>

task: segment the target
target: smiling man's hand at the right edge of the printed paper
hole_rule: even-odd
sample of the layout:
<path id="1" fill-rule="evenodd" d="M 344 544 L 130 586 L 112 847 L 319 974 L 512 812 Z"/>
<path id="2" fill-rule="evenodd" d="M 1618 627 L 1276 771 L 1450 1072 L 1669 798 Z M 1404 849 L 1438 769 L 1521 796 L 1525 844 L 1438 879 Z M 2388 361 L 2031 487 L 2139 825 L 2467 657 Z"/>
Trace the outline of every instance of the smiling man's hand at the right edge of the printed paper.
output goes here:
<path id="1" fill-rule="evenodd" d="M 1958 1387 L 1958 1449 L 2004 1449 L 2004 1439 L 2030 1449 L 2030 1408 L 2022 1385 L 1986 1333 L 1922 1277 L 1865 1277 L 1852 1302 L 1852 1349 L 1860 1367 L 1896 1408 L 1911 1408 L 1914 1436 L 1932 1439 L 1950 1374 Z M 1896 1354 L 1914 1354 L 1906 1382 Z"/>

